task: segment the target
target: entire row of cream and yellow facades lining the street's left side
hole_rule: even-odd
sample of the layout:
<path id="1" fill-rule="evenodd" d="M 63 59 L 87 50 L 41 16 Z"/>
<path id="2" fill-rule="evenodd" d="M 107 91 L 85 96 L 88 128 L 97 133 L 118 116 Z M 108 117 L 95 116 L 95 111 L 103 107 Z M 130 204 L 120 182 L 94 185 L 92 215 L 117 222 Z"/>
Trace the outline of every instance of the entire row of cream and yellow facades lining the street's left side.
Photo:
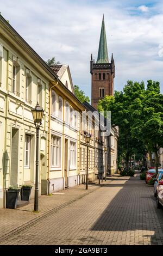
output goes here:
<path id="1" fill-rule="evenodd" d="M 32 109 L 44 109 L 39 138 L 39 194 L 50 194 L 97 179 L 108 164 L 117 170 L 117 134 L 104 137 L 96 118 L 74 95 L 68 65 L 51 68 L 0 15 L 0 208 L 10 186 L 35 189 L 36 129 Z M 82 113 L 86 113 L 86 119 Z M 114 139 L 112 139 L 114 138 Z M 104 146 L 108 148 L 104 153 Z M 106 160 L 106 161 L 105 161 Z M 110 161 L 110 162 L 109 162 Z"/>

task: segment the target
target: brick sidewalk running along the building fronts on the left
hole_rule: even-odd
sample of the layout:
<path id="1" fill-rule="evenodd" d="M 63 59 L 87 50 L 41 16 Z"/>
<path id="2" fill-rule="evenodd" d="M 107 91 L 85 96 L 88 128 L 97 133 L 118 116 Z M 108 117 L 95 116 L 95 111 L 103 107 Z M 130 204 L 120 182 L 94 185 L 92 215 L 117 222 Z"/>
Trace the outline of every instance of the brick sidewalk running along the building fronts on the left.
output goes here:
<path id="1" fill-rule="evenodd" d="M 30 225 L 36 221 L 39 221 L 41 217 L 52 214 L 66 205 L 73 203 L 74 201 L 86 196 L 104 184 L 109 184 L 116 178 L 112 177 L 108 181 L 103 181 L 101 185 L 89 184 L 89 190 L 85 190 L 85 185 L 75 186 L 68 188 L 67 190 L 60 191 L 52 194 L 52 196 L 39 197 L 39 213 L 35 214 L 34 199 L 30 200 L 30 203 L 21 208 L 12 209 L 0 209 L 0 239 L 2 236 L 7 235 L 13 230 L 17 230 L 26 225 Z"/>

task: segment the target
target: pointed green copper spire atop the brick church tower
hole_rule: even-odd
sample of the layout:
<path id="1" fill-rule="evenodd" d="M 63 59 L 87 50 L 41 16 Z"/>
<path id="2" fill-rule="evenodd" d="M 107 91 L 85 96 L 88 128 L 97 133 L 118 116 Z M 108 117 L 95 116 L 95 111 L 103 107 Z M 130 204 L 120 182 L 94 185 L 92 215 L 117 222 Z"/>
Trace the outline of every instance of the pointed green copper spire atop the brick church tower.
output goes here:
<path id="1" fill-rule="evenodd" d="M 100 35 L 99 48 L 98 48 L 98 57 L 97 57 L 96 63 L 109 63 L 104 15 L 103 15 L 101 35 Z"/>

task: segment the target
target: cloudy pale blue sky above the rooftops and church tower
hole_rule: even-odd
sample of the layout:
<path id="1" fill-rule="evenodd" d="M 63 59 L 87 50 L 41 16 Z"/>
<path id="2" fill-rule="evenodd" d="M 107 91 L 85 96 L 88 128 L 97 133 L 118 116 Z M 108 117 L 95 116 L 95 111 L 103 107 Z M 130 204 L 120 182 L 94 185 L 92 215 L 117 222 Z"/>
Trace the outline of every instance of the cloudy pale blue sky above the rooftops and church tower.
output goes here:
<path id="1" fill-rule="evenodd" d="M 73 84 L 90 97 L 90 57 L 96 62 L 104 14 L 114 89 L 152 79 L 163 92 L 162 1 L 0 0 L 0 12 L 44 60 L 68 64 Z"/>

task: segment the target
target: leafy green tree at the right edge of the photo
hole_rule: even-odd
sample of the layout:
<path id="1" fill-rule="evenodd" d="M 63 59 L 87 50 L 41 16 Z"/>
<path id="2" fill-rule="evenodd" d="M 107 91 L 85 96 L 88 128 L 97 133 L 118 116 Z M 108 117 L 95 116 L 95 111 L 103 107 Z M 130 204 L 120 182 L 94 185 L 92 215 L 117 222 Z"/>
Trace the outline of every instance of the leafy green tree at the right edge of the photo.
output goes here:
<path id="1" fill-rule="evenodd" d="M 155 167 L 158 173 L 158 150 L 163 147 L 163 95 L 159 82 L 149 80 L 143 97 L 131 107 L 131 134 L 146 145 L 149 155 L 155 153 Z"/>

